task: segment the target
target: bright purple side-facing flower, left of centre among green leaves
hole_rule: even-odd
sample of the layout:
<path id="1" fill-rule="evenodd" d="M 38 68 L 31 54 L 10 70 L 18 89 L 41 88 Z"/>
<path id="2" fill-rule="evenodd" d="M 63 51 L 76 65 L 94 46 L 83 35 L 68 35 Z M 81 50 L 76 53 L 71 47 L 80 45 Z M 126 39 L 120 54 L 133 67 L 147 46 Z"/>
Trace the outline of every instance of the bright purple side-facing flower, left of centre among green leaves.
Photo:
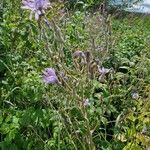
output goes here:
<path id="1" fill-rule="evenodd" d="M 43 71 L 43 81 L 46 84 L 54 84 L 58 82 L 58 78 L 53 68 L 46 68 Z"/>

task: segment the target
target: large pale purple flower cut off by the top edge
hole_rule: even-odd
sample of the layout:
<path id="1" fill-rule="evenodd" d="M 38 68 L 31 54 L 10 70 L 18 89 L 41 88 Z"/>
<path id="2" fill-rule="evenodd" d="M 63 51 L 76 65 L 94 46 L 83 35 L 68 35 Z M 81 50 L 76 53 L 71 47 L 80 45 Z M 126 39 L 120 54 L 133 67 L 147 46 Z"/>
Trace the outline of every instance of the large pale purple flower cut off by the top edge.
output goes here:
<path id="1" fill-rule="evenodd" d="M 45 13 L 45 9 L 50 7 L 50 3 L 48 0 L 23 0 L 22 1 L 23 9 L 29 9 L 30 19 L 32 19 L 33 13 L 35 13 L 35 19 L 38 20 L 41 15 Z"/>

